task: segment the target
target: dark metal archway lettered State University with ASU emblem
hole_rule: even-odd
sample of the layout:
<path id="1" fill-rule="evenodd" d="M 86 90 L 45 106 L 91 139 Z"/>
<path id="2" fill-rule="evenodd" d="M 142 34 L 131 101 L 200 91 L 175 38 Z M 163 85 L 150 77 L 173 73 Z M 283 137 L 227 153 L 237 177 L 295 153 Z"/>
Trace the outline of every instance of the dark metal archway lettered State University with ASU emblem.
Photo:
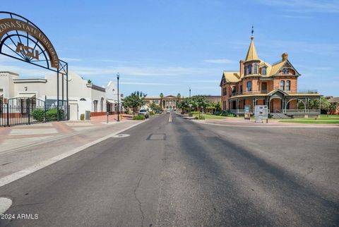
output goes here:
<path id="1" fill-rule="evenodd" d="M 66 76 L 66 118 L 69 119 L 68 63 L 59 59 L 52 42 L 37 25 L 16 13 L 0 11 L 0 54 L 57 73 L 58 113 L 59 102 L 64 105 L 64 77 Z M 59 99 L 60 74 L 62 77 L 61 99 Z M 57 116 L 57 121 L 59 121 L 59 114 Z"/>

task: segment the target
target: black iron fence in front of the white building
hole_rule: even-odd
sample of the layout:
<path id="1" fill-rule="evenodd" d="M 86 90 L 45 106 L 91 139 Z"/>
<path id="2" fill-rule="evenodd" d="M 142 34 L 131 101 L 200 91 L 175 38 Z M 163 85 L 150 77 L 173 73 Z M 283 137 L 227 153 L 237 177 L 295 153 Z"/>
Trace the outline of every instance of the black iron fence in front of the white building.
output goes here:
<path id="1" fill-rule="evenodd" d="M 61 101 L 62 103 L 62 101 Z M 41 99 L 12 98 L 4 102 L 0 99 L 0 126 L 64 121 L 67 118 L 66 102 L 47 105 Z"/>

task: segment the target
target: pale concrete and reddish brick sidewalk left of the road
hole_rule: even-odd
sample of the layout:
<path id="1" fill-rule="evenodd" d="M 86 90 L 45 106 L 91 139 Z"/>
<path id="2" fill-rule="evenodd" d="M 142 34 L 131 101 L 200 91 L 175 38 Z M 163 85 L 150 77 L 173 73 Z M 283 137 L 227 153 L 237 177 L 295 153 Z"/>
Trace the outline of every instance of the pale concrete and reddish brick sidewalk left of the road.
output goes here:
<path id="1" fill-rule="evenodd" d="M 1 128 L 0 178 L 144 121 L 64 121 Z"/>

